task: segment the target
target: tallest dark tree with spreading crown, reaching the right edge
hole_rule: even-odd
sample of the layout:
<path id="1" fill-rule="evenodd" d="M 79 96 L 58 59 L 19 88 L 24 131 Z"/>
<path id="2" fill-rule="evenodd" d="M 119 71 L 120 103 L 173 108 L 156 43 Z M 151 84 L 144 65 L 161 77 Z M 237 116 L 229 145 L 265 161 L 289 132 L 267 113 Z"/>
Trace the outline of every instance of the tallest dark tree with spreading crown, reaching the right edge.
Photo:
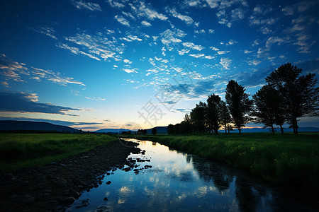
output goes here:
<path id="1" fill-rule="evenodd" d="M 302 69 L 284 64 L 272 71 L 266 82 L 274 86 L 283 97 L 286 114 L 293 133 L 298 134 L 298 118 L 318 116 L 319 88 L 315 87 L 315 73 L 301 76 Z"/>

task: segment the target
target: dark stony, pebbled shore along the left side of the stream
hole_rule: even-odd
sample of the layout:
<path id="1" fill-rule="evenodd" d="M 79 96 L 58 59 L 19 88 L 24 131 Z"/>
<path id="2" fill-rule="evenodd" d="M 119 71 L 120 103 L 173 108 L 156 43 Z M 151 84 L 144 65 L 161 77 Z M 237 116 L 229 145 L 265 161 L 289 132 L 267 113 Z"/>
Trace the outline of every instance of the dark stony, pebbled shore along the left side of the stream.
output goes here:
<path id="1" fill-rule="evenodd" d="M 140 153 L 136 146 L 116 139 L 48 165 L 0 175 L 0 211 L 65 211 L 82 192 L 98 187 L 106 172 L 132 166 L 126 158 Z"/>

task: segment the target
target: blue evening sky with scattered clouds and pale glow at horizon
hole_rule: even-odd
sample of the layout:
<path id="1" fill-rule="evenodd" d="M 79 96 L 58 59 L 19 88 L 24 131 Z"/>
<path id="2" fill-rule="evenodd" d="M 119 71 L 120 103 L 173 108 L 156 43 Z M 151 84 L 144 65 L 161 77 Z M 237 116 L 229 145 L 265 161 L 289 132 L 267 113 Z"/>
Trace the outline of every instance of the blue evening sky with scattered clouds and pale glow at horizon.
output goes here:
<path id="1" fill-rule="evenodd" d="M 315 0 L 1 1 L 0 119 L 149 129 L 213 93 L 225 100 L 230 80 L 253 95 L 288 62 L 318 78 L 318 10 Z"/>

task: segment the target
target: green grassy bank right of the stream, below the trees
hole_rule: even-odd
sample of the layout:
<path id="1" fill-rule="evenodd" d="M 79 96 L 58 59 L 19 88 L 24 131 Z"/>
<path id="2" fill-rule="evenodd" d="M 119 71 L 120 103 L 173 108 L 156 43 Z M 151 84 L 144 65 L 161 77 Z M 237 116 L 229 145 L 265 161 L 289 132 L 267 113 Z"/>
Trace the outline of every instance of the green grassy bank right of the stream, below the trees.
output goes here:
<path id="1" fill-rule="evenodd" d="M 319 134 L 135 136 L 247 170 L 267 182 L 319 189 Z"/>

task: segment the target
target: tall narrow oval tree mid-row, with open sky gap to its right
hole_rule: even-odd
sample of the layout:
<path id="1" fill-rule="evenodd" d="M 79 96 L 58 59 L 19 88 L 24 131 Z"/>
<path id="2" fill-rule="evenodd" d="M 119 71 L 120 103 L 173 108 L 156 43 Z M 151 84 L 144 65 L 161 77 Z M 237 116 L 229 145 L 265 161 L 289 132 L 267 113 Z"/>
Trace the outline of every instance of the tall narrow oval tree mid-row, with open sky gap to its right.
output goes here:
<path id="1" fill-rule="evenodd" d="M 245 93 L 245 90 L 244 87 L 231 80 L 228 82 L 225 95 L 230 114 L 239 134 L 241 134 L 242 126 L 248 122 L 248 114 L 252 109 L 252 100 L 248 99 L 249 95 Z"/>

